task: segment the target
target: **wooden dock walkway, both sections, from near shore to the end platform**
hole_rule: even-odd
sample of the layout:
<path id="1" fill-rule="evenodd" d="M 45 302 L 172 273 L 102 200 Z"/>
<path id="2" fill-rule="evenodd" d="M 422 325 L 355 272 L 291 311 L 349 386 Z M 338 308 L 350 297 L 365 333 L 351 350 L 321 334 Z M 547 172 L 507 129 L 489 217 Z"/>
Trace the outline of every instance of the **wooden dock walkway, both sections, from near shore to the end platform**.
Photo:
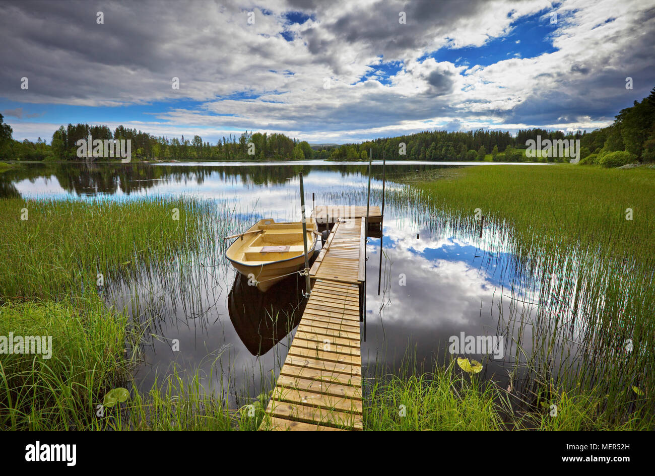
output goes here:
<path id="1" fill-rule="evenodd" d="M 365 245 L 362 217 L 334 224 L 260 430 L 362 430 Z"/>

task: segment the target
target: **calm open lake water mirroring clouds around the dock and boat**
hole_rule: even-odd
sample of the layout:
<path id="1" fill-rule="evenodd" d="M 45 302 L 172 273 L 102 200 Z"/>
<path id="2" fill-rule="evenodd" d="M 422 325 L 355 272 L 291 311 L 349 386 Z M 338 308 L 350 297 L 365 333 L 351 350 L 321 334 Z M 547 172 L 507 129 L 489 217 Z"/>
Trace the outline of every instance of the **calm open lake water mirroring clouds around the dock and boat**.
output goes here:
<path id="1" fill-rule="evenodd" d="M 386 174 L 449 167 L 390 162 Z M 261 218 L 300 219 L 299 172 L 308 208 L 312 194 L 316 204 L 365 205 L 367 165 L 362 163 L 31 164 L 0 174 L 0 194 L 127 200 L 186 194 L 227 204 L 235 210 L 236 229 L 246 229 Z M 381 204 L 381 173 L 381 166 L 373 167 L 372 205 Z M 402 187 L 386 182 L 390 195 Z M 430 371 L 435 359 L 443 362 L 447 356 L 449 338 L 464 333 L 503 336 L 502 356 L 466 356 L 483 361 L 484 375 L 505 382 L 514 363 L 512 336 L 521 333 L 527 352 L 531 339 L 529 326 L 514 329 L 508 321 L 529 319 L 539 291 L 517 278 L 507 238 L 493 229 L 485 229 L 482 239 L 477 232 L 453 229 L 439 216 L 426 215 L 420 204 L 390 200 L 384 215 L 380 295 L 381 240 L 367 240 L 365 375 L 373 375 L 376 366 L 394 371 L 407 353 Z M 268 390 L 293 337 L 289 328 L 302 314 L 297 277 L 261 295 L 235 282 L 222 256 L 199 255 L 183 268 L 168 274 L 150 269 L 134 282 L 113 283 L 106 290 L 107 302 L 126 308 L 145 326 L 144 362 L 136 375 L 141 388 L 175 365 L 178 371 L 200 369 L 204 386 L 211 383 L 237 404 Z M 276 314 L 278 321 L 271 318 Z"/>

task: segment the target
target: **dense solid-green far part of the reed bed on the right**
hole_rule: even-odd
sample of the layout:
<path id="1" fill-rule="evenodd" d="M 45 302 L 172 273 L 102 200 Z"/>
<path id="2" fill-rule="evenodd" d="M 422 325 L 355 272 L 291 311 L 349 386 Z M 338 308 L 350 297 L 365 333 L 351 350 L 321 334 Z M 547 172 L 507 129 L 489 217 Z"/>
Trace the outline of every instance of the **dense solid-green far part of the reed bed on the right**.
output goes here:
<path id="1" fill-rule="evenodd" d="M 422 191 L 426 204 L 460 213 L 463 220 L 480 208 L 485 221 L 507 221 L 528 246 L 544 246 L 546 239 L 640 261 L 652 255 L 647 251 L 655 238 L 655 170 L 496 165 L 460 168 L 448 177 L 409 175 L 403 181 Z"/>

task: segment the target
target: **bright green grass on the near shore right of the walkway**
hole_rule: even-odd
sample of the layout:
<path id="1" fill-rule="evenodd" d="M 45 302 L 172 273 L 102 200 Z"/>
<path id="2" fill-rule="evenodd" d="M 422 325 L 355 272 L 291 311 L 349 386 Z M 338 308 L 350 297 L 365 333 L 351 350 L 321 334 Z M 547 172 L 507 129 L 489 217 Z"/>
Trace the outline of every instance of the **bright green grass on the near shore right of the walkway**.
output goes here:
<path id="1" fill-rule="evenodd" d="M 637 419 L 612 424 L 602 402 L 576 392 L 553 392 L 530 411 L 514 411 L 512 396 L 493 382 L 466 375 L 454 365 L 435 373 L 375 378 L 365 402 L 364 428 L 371 431 L 607 431 L 648 430 Z M 554 407 L 553 407 L 554 405 Z"/>

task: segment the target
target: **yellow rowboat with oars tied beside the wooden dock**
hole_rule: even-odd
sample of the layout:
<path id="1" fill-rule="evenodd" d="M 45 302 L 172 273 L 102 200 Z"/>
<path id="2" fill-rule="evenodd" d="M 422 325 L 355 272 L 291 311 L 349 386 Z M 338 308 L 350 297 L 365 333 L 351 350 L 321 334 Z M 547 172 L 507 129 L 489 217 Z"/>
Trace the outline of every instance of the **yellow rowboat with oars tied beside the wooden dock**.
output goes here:
<path id="1" fill-rule="evenodd" d="M 315 221 L 307 221 L 307 259 L 314 255 L 316 247 Z M 275 223 L 273 219 L 259 220 L 248 231 L 238 235 L 225 251 L 234 268 L 257 283 L 257 289 L 265 293 L 289 274 L 305 267 L 303 223 Z"/>

